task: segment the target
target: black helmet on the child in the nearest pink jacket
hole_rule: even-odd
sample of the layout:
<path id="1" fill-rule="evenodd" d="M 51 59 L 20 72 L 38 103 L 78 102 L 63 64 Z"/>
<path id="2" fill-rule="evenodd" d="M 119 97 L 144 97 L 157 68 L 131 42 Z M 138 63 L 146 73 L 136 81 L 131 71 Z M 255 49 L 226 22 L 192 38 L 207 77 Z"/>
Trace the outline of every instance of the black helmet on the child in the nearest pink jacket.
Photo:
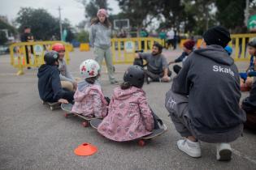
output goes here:
<path id="1" fill-rule="evenodd" d="M 144 83 L 144 70 L 141 66 L 129 66 L 124 73 L 124 82 L 141 88 Z"/>

